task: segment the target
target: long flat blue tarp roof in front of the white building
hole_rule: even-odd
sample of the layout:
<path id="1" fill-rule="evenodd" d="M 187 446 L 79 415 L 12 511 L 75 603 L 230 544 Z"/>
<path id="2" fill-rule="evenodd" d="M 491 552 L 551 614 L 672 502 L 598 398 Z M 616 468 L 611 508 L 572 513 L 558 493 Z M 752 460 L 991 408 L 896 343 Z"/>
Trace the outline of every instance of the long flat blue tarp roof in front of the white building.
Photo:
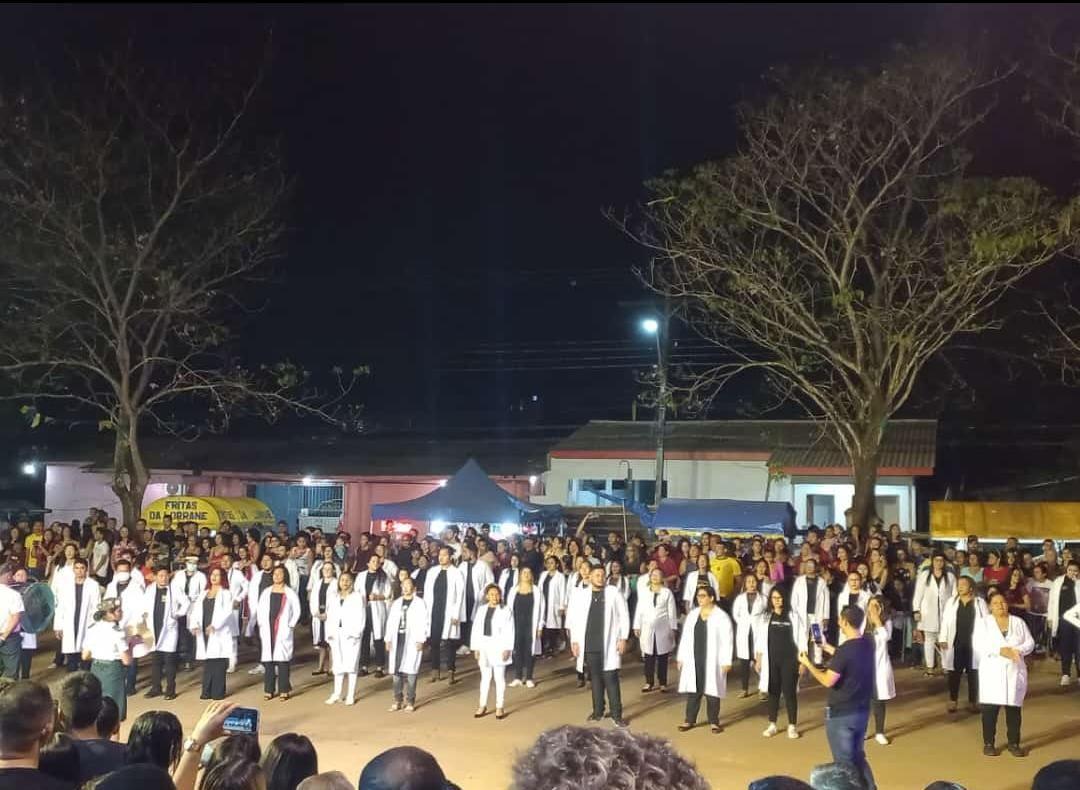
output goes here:
<path id="1" fill-rule="evenodd" d="M 652 527 L 784 535 L 795 528 L 795 509 L 785 501 L 664 499 Z"/>

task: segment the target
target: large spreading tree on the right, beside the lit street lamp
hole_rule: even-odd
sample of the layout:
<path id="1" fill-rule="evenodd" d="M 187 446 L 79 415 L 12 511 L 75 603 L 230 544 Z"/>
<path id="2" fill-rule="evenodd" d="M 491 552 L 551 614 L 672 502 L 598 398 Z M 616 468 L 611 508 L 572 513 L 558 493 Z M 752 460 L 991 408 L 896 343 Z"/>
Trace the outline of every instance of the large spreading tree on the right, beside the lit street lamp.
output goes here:
<path id="1" fill-rule="evenodd" d="M 993 325 L 1070 237 L 1034 182 L 967 177 L 962 140 L 1004 76 L 899 52 L 874 71 L 781 78 L 740 108 L 735 155 L 650 183 L 643 216 L 619 219 L 652 254 L 647 284 L 721 353 L 691 394 L 707 406 L 762 374 L 846 452 L 858 523 L 875 513 L 886 424 L 928 360 Z"/>

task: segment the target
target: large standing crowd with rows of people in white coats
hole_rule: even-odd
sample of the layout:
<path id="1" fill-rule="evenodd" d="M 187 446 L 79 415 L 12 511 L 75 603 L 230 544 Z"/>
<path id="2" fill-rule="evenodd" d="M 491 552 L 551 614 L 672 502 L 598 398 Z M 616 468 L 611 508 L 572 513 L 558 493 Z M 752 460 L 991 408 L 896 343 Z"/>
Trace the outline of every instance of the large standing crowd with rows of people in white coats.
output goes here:
<path id="1" fill-rule="evenodd" d="M 458 660 L 472 656 L 475 715 L 488 714 L 494 685 L 502 719 L 508 688 L 536 687 L 538 658 L 568 654 L 578 685 L 591 686 L 589 720 L 624 728 L 622 659 L 636 651 L 646 694 L 672 691 L 674 658 L 675 691 L 686 698 L 680 732 L 697 726 L 704 701 L 707 726 L 720 733 L 720 702 L 741 689 L 767 701 L 765 737 L 781 732 L 783 701 L 786 735 L 798 738 L 800 683 L 827 686 L 833 755 L 874 787 L 863 741 L 890 742 L 894 667 L 946 674 L 950 714 L 966 675 L 984 753 L 999 753 L 1003 711 L 1007 749 L 1023 756 L 1028 660 L 1056 654 L 1062 685 L 1080 661 L 1080 562 L 1050 540 L 1036 555 L 1014 538 L 983 547 L 972 536 L 958 548 L 896 525 L 829 525 L 811 526 L 798 544 L 662 531 L 646 544 L 596 535 L 591 517 L 551 536 L 500 536 L 484 524 L 418 537 L 390 525 L 355 546 L 346 533 L 291 534 L 284 523 L 226 523 L 214 534 L 167 521 L 129 528 L 96 510 L 81 524 L 17 523 L 0 535 L 2 671 L 28 677 L 36 641 L 19 631 L 16 593 L 32 580 L 54 592 L 54 662 L 90 670 L 121 720 L 140 661 L 148 697 L 175 698 L 178 669 L 200 661 L 202 697 L 222 700 L 246 640 L 258 644 L 248 671 L 262 674 L 265 698 L 288 700 L 306 624 L 314 673 L 333 679 L 328 705 L 353 705 L 357 679 L 389 674 L 390 710 L 413 712 L 424 666 L 431 683 L 455 684 Z"/>

